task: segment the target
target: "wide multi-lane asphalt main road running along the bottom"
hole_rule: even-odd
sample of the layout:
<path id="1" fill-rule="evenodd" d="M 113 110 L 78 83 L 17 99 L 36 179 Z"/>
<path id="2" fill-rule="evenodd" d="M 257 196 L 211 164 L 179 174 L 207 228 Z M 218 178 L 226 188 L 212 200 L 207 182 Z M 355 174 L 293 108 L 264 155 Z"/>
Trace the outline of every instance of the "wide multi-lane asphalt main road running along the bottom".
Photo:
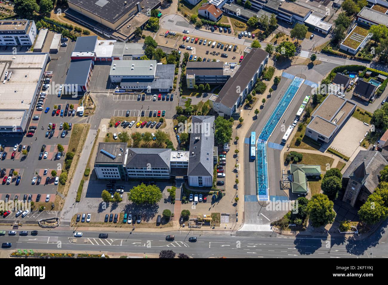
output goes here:
<path id="1" fill-rule="evenodd" d="M 99 239 L 99 231 L 83 232 L 81 238 L 74 238 L 68 230 L 39 230 L 36 236 L 1 236 L 2 242 L 11 242 L 11 249 L 33 249 L 38 251 L 105 251 L 159 253 L 171 249 L 175 253 L 185 253 L 194 258 L 388 258 L 387 235 L 384 227 L 365 240 L 345 240 L 343 237 L 285 237 L 272 232 L 257 233 L 255 237 L 212 235 L 203 232 L 198 235 L 191 231 L 171 233 L 133 233 L 114 230 L 106 232 L 107 239 Z M 81 229 L 78 229 L 81 231 Z M 77 231 L 77 229 L 76 229 Z M 174 234 L 174 241 L 166 241 L 166 235 Z M 191 236 L 197 242 L 189 242 Z M 373 252 L 373 254 L 372 254 Z"/>

